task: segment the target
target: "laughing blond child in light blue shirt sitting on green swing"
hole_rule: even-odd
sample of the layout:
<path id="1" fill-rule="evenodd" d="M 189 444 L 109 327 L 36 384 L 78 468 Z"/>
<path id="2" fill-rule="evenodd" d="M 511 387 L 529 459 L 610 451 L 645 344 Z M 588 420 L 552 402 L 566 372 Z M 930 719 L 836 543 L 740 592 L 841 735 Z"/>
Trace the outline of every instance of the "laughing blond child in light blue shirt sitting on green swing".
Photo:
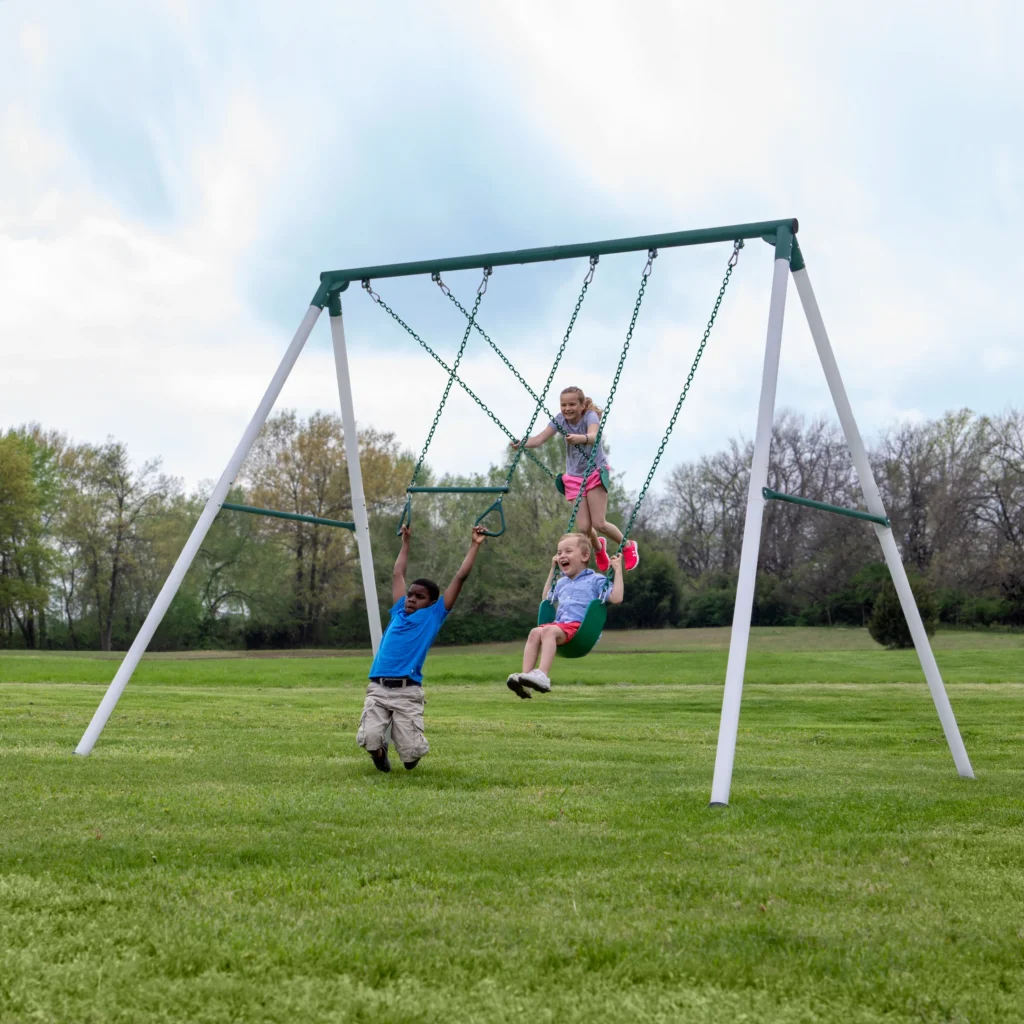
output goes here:
<path id="1" fill-rule="evenodd" d="M 529 690 L 551 692 L 548 672 L 555 660 L 555 650 L 575 636 L 591 601 L 622 604 L 623 556 L 618 554 L 610 558 L 610 566 L 615 573 L 612 583 L 587 565 L 590 554 L 590 539 L 585 534 L 566 534 L 558 542 L 558 551 L 551 559 L 551 571 L 544 581 L 543 593 L 545 599 L 557 605 L 555 621 L 546 626 L 535 626 L 529 631 L 522 652 L 522 672 L 513 672 L 508 678 L 509 689 L 524 700 L 532 695 Z M 552 587 L 556 568 L 561 569 L 562 575 Z"/>

